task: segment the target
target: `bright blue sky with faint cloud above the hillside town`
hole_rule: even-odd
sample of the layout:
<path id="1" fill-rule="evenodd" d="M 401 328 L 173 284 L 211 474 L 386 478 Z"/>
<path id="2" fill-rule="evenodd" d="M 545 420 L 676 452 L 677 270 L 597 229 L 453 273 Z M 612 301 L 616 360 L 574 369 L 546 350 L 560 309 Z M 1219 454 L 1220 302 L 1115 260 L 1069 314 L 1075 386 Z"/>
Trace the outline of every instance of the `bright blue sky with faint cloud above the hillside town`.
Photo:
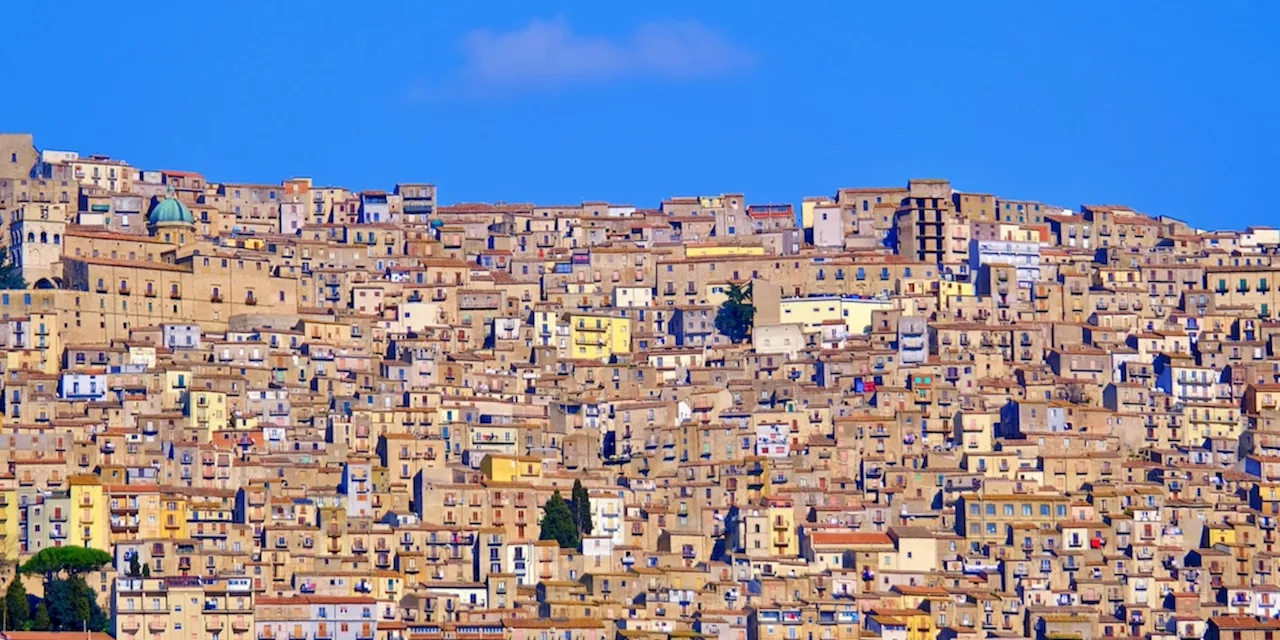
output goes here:
<path id="1" fill-rule="evenodd" d="M 890 5 L 893 6 L 881 6 Z M 1275 221 L 1280 3 L 19 3 L 0 129 L 211 179 L 655 206 L 950 178 Z"/>

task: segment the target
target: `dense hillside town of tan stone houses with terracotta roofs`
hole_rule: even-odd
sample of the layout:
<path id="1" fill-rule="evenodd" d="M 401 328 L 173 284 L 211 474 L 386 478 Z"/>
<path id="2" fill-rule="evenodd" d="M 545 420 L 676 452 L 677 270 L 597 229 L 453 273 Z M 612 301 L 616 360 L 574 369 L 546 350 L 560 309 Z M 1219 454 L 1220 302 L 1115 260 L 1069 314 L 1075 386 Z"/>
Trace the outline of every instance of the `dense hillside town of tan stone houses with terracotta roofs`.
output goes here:
<path id="1" fill-rule="evenodd" d="M 1280 634 L 1280 229 L 198 169 L 0 136 L 5 630 Z"/>

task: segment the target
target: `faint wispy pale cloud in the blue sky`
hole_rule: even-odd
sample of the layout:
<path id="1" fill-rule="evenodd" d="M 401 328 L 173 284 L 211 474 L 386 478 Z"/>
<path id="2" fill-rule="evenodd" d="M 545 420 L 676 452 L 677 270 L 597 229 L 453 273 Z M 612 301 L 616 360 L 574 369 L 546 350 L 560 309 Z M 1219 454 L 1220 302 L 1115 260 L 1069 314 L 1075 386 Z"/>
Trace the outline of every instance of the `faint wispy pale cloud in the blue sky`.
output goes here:
<path id="1" fill-rule="evenodd" d="M 705 78 L 740 69 L 751 56 L 698 22 L 653 22 L 625 38 L 575 33 L 562 19 L 462 38 L 460 81 L 490 91 L 530 90 L 616 78 Z"/>

